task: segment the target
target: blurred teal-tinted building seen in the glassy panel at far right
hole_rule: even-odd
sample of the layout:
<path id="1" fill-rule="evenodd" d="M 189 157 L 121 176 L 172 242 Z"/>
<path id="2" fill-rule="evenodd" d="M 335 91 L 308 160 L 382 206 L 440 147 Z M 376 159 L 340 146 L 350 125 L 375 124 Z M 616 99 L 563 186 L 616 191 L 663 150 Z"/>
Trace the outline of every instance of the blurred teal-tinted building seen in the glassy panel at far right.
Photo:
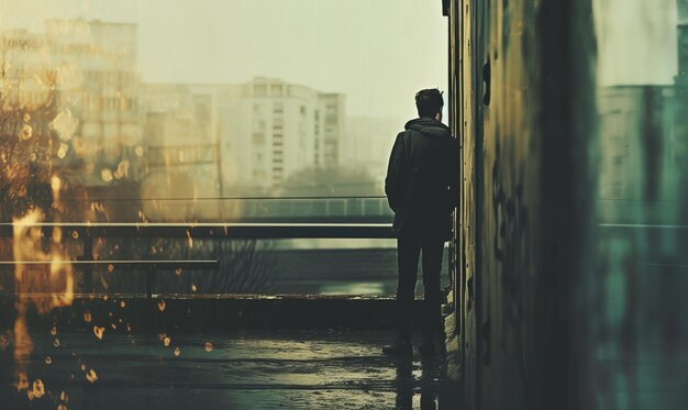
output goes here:
<path id="1" fill-rule="evenodd" d="M 676 199 L 676 92 L 673 86 L 615 86 L 598 90 L 602 200 Z"/>

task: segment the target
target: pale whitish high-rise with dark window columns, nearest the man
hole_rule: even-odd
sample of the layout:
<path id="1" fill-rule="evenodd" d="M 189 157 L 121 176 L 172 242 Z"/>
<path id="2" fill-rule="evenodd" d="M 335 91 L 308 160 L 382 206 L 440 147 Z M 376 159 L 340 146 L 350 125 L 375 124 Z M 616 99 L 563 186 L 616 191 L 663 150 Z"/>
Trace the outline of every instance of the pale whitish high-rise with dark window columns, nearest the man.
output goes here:
<path id="1" fill-rule="evenodd" d="M 224 196 L 237 189 L 275 192 L 298 170 L 339 166 L 343 95 L 269 78 L 219 92 Z"/>

